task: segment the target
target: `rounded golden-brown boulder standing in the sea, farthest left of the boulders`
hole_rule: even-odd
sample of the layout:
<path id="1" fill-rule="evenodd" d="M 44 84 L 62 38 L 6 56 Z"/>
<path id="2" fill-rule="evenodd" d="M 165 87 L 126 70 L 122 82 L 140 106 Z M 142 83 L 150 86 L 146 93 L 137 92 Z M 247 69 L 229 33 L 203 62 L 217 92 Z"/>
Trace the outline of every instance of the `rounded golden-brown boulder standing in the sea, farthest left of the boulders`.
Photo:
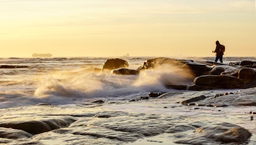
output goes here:
<path id="1" fill-rule="evenodd" d="M 108 59 L 104 63 L 102 70 L 104 70 L 104 69 L 112 70 L 112 69 L 118 69 L 121 67 L 129 67 L 129 63 L 127 61 L 119 59 L 119 58 Z"/>

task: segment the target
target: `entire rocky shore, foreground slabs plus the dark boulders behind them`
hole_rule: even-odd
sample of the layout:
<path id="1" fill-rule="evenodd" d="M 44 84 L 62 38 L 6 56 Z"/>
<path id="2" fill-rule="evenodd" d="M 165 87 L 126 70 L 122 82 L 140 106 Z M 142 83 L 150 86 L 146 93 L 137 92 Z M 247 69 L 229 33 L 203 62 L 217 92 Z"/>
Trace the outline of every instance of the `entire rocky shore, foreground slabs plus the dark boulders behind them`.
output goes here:
<path id="1" fill-rule="evenodd" d="M 0 144 L 256 144 L 255 63 L 154 58 L 130 69 L 111 59 L 94 71 L 175 68 L 187 78 L 164 82 L 171 92 L 0 109 Z"/>

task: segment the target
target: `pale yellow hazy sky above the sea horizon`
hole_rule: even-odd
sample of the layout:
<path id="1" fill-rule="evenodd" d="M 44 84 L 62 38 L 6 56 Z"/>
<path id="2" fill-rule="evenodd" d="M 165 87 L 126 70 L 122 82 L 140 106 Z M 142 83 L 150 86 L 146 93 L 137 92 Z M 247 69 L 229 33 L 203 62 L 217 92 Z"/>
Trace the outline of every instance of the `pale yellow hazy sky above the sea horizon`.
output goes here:
<path id="1" fill-rule="evenodd" d="M 0 57 L 256 56 L 254 0 L 0 0 Z"/>

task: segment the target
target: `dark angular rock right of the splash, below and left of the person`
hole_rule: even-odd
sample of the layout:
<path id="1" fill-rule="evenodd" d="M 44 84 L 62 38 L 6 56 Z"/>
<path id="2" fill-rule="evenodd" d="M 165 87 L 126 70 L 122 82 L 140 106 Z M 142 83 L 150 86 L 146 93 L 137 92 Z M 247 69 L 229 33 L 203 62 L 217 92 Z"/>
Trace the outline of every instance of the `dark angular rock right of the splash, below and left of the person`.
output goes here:
<path id="1" fill-rule="evenodd" d="M 205 64 L 189 62 L 183 65 L 185 68 L 189 68 L 194 72 L 196 77 L 206 75 L 212 69 L 211 67 L 206 66 Z"/>

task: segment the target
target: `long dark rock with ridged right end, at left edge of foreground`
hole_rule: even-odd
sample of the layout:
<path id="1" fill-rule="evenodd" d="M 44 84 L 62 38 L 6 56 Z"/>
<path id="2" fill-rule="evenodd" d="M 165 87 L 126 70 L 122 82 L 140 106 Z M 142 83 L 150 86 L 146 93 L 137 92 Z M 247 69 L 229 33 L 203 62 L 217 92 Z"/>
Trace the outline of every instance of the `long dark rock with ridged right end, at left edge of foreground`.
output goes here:
<path id="1" fill-rule="evenodd" d="M 61 127 L 67 127 L 75 121 L 76 119 L 74 117 L 64 117 L 46 120 L 23 120 L 16 122 L 2 122 L 0 123 L 0 127 L 24 130 L 31 134 L 39 134 Z"/>

